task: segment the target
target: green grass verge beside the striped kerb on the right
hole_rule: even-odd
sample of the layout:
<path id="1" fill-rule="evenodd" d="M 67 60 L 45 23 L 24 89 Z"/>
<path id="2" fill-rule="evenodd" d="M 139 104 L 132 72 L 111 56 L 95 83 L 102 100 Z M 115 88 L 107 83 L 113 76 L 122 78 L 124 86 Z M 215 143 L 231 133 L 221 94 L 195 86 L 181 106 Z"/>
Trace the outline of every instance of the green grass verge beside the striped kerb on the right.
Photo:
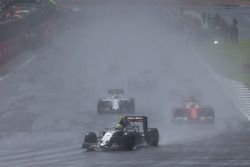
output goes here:
<path id="1" fill-rule="evenodd" d="M 215 71 L 227 78 L 242 81 L 250 87 L 250 40 L 242 40 L 238 45 L 224 43 L 217 47 L 202 46 L 203 59 Z"/>

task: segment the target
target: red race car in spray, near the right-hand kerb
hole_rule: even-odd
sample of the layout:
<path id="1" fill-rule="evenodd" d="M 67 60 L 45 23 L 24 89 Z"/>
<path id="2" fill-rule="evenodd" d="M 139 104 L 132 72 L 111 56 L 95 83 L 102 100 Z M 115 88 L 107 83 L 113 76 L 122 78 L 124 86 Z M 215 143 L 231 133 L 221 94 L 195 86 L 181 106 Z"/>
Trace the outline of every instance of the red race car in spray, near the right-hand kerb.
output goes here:
<path id="1" fill-rule="evenodd" d="M 183 107 L 173 110 L 174 122 L 214 123 L 215 113 L 213 108 L 201 106 L 195 97 L 184 98 L 183 104 Z"/>

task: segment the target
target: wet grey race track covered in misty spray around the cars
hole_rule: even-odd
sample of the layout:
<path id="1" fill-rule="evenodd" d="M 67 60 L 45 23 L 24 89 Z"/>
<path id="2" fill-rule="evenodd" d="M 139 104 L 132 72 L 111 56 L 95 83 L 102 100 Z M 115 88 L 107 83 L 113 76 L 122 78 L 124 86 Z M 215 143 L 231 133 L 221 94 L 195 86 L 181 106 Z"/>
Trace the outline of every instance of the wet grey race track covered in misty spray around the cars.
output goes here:
<path id="1" fill-rule="evenodd" d="M 1 68 L 0 166 L 244 166 L 250 165 L 249 131 L 226 133 L 245 121 L 195 49 L 169 28 L 161 6 L 85 6 L 81 26 L 35 53 Z M 171 12 L 171 9 L 169 9 Z M 165 18 L 166 16 L 166 18 Z M 169 20 L 168 20 L 169 19 Z M 128 88 L 129 78 L 151 71 L 157 86 Z M 201 90 L 215 109 L 214 125 L 175 125 L 171 110 L 181 99 L 171 90 Z M 123 88 L 160 131 L 157 148 L 85 152 L 87 131 L 112 127 L 120 115 L 98 115 L 107 89 Z"/>

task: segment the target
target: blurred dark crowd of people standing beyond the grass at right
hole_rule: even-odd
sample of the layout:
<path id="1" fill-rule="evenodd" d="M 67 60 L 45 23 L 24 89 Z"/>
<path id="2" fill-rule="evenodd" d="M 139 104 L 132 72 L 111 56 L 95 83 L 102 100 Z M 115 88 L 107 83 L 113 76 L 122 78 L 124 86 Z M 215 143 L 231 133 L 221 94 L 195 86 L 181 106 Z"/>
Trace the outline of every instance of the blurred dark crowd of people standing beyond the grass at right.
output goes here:
<path id="1" fill-rule="evenodd" d="M 178 19 L 182 23 L 181 27 L 188 35 L 188 39 L 199 38 L 210 41 L 216 39 L 238 44 L 239 30 L 236 18 L 232 18 L 232 22 L 228 23 L 218 13 L 213 15 L 208 13 L 194 14 L 195 12 L 192 15 L 190 13 L 187 14 L 181 9 Z"/>

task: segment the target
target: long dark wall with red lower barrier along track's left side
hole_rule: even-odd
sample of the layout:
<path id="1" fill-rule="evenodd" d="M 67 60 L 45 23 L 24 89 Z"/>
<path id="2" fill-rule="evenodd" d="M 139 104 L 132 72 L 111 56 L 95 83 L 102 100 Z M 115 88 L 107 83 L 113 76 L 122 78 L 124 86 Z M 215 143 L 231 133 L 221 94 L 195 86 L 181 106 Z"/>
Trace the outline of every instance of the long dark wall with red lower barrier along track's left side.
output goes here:
<path id="1" fill-rule="evenodd" d="M 54 13 L 34 13 L 22 20 L 0 24 L 0 63 L 26 46 L 48 42 L 55 31 L 53 19 Z M 36 34 L 35 38 L 28 39 L 30 34 Z"/>

